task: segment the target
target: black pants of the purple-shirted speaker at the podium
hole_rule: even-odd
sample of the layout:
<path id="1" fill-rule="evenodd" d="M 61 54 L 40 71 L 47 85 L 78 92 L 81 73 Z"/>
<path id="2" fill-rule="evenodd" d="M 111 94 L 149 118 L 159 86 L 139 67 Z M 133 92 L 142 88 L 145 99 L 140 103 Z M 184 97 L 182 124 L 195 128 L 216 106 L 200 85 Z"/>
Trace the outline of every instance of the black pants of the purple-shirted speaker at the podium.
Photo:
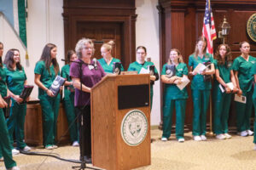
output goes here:
<path id="1" fill-rule="evenodd" d="M 90 135 L 90 105 L 79 107 L 79 148 L 80 156 L 91 157 L 91 135 Z M 82 126 L 83 116 L 83 126 Z M 82 127 L 84 127 L 84 133 L 82 133 Z M 82 141 L 84 139 L 84 141 Z M 84 153 L 83 153 L 84 144 Z"/>

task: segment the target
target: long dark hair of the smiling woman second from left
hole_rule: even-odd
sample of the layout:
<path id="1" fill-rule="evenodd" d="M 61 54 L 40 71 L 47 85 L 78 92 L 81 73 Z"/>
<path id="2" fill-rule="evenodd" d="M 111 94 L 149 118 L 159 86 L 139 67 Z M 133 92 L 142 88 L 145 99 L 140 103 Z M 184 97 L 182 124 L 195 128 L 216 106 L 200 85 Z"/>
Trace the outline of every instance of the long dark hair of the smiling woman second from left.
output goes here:
<path id="1" fill-rule="evenodd" d="M 15 64 L 15 51 L 18 51 L 20 54 L 19 49 L 9 49 L 8 52 L 5 54 L 5 58 L 3 61 L 3 64 L 6 65 L 6 67 L 10 70 L 10 71 L 14 71 L 13 65 Z M 18 70 L 22 71 L 22 65 L 20 65 L 20 62 L 16 63 L 16 67 Z"/>

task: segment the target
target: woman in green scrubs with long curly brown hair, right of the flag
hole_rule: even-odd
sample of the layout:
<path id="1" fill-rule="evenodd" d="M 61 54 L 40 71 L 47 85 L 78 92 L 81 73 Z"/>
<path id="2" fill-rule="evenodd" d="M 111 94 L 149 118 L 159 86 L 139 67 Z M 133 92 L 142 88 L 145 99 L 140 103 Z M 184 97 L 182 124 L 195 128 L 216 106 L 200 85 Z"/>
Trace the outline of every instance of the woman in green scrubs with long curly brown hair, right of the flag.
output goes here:
<path id="1" fill-rule="evenodd" d="M 232 56 L 230 47 L 227 44 L 220 44 L 214 60 L 215 77 L 213 83 L 212 105 L 213 114 L 213 132 L 217 139 L 230 139 L 231 135 L 228 127 L 230 112 L 231 94 L 237 92 L 236 79 L 232 71 Z M 232 82 L 233 90 L 227 85 Z M 224 89 L 222 92 L 220 86 Z"/>

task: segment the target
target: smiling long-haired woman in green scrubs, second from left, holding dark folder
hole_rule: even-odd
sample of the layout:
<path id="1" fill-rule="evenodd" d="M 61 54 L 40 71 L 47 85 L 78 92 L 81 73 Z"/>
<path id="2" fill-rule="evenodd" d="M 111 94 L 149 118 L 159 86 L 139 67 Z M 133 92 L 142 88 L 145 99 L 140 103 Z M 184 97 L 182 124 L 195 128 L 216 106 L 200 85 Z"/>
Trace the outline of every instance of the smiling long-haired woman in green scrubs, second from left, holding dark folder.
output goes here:
<path id="1" fill-rule="evenodd" d="M 12 99 L 10 115 L 7 119 L 7 127 L 11 144 L 17 141 L 18 150 L 29 151 L 31 148 L 24 142 L 24 125 L 26 116 L 26 102 L 20 98 L 20 94 L 27 84 L 26 73 L 22 65 L 20 65 L 20 51 L 18 49 L 9 49 L 5 55 L 3 64 L 6 69 L 6 83 L 9 89 L 9 94 Z M 23 102 L 23 103 L 22 103 Z M 15 149 L 13 148 L 13 153 Z"/>

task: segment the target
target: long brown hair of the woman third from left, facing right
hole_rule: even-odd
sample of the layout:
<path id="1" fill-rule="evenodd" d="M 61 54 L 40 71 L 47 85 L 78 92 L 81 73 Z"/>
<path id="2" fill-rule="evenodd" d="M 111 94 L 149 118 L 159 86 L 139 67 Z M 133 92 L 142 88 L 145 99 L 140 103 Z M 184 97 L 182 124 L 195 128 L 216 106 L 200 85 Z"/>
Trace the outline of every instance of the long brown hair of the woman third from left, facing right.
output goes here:
<path id="1" fill-rule="evenodd" d="M 50 64 L 54 65 L 54 69 L 55 69 L 55 75 L 58 74 L 58 72 L 60 71 L 60 68 L 59 68 L 59 64 L 57 62 L 57 59 L 51 59 L 51 56 L 50 56 L 50 51 L 53 49 L 53 48 L 56 48 L 56 45 L 53 44 L 53 43 L 47 43 L 45 46 L 44 46 L 44 49 L 43 49 L 43 53 L 41 55 L 41 58 L 39 59 L 40 61 L 44 61 L 45 63 L 45 67 L 46 69 L 49 71 L 49 67 L 50 67 Z M 49 74 L 50 74 L 50 71 L 49 71 Z"/>

